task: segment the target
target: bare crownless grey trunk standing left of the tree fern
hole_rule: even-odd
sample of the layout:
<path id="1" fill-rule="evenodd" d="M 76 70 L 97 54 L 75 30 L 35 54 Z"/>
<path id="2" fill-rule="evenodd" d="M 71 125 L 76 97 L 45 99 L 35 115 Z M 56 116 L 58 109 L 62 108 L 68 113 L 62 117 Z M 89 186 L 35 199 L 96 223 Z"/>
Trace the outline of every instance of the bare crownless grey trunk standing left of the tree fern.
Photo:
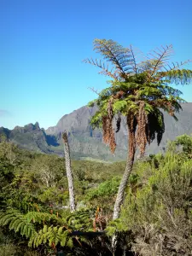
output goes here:
<path id="1" fill-rule="evenodd" d="M 68 145 L 67 132 L 65 131 L 62 134 L 63 143 L 64 143 L 64 153 L 66 161 L 66 172 L 67 172 L 67 181 L 68 181 L 68 192 L 69 192 L 69 205 L 71 212 L 75 211 L 75 196 L 74 196 L 74 187 L 73 187 L 73 174 L 71 167 L 71 156 L 70 149 Z"/>

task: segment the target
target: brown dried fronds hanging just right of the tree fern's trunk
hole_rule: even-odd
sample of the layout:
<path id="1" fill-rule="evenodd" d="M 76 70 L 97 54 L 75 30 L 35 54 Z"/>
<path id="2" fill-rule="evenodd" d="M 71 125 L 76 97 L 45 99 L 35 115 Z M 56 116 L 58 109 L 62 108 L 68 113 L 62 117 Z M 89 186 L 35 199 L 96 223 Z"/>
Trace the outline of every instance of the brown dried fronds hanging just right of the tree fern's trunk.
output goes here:
<path id="1" fill-rule="evenodd" d="M 148 116 L 144 110 L 144 102 L 140 102 L 139 106 L 139 113 L 137 115 L 137 135 L 136 135 L 136 142 L 138 148 L 140 149 L 140 154 L 143 156 L 145 153 L 145 148 L 148 143 L 148 133 L 147 126 L 148 126 Z"/>

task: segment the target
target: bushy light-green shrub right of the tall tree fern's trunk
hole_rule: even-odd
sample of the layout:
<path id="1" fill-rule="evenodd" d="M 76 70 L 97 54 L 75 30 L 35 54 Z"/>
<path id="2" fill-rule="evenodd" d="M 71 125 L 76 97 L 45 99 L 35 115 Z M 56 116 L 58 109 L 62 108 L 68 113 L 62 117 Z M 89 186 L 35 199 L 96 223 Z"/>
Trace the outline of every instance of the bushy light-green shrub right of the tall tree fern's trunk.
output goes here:
<path id="1" fill-rule="evenodd" d="M 121 216 L 108 225 L 108 235 L 133 232 L 132 251 L 138 255 L 189 255 L 191 160 L 167 152 L 138 162 L 136 170 L 137 183 L 128 187 Z"/>

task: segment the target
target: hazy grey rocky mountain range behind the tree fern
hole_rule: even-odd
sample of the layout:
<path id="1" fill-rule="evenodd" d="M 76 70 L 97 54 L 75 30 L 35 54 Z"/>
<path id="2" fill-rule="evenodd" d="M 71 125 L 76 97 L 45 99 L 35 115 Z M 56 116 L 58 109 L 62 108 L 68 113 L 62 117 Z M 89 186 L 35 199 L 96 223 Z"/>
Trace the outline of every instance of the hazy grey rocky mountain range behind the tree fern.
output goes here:
<path id="1" fill-rule="evenodd" d="M 119 133 L 116 134 L 117 149 L 112 155 L 105 144 L 102 143 L 102 131 L 92 130 L 90 118 L 96 113 L 96 107 L 79 108 L 73 113 L 64 115 L 57 125 L 49 127 L 46 131 L 40 129 L 38 123 L 24 127 L 16 126 L 15 129 L 0 128 L 0 134 L 10 141 L 17 143 L 21 148 L 41 151 L 48 154 L 63 154 L 61 132 L 68 133 L 72 156 L 75 159 L 95 158 L 102 160 L 125 160 L 127 149 L 127 131 L 125 122 L 122 122 Z M 147 154 L 156 154 L 166 147 L 168 139 L 172 140 L 178 135 L 192 133 L 192 103 L 183 104 L 183 111 L 177 114 L 176 122 L 165 113 L 166 132 L 160 147 L 156 141 L 147 149 Z"/>

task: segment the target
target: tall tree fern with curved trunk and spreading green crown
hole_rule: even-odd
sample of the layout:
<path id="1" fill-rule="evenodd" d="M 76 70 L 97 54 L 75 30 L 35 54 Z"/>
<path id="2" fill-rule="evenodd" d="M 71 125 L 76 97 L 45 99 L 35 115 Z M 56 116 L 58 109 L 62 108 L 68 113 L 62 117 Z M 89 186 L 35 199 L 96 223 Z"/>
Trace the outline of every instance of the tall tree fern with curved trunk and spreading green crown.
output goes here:
<path id="1" fill-rule="evenodd" d="M 192 70 L 183 69 L 183 65 L 189 61 L 169 64 L 172 44 L 155 49 L 143 61 L 138 60 L 131 45 L 125 48 L 113 40 L 95 39 L 94 50 L 112 68 L 107 63 L 93 59 L 85 62 L 99 67 L 101 73 L 112 80 L 108 81 L 111 85 L 97 93 L 96 100 L 90 102 L 90 107 L 96 104 L 99 108 L 90 124 L 93 127 L 102 127 L 103 141 L 109 145 L 112 153 L 116 148 L 113 128 L 115 117 L 118 132 L 122 115 L 125 116 L 129 135 L 125 172 L 113 209 L 113 219 L 116 219 L 119 218 L 137 148 L 143 157 L 147 145 L 155 138 L 160 145 L 165 132 L 164 113 L 169 113 L 177 120 L 175 114 L 182 109 L 181 103 L 185 102 L 180 97 L 182 92 L 172 84 L 189 84 Z M 114 238 L 113 243 L 115 247 Z"/>

